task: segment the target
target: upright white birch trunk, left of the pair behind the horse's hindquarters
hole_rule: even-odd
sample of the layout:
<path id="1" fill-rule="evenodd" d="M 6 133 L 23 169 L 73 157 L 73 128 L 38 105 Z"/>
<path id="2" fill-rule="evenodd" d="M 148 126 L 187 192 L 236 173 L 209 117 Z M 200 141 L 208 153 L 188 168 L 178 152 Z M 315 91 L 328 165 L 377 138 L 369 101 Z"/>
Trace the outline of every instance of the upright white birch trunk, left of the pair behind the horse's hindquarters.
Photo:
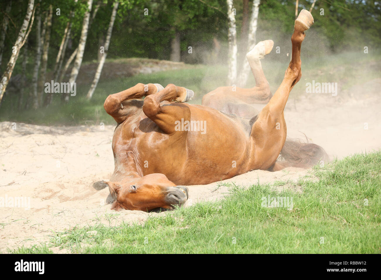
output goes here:
<path id="1" fill-rule="evenodd" d="M 233 11 L 233 0 L 226 0 L 227 17 L 229 19 L 229 58 L 227 79 L 229 85 L 236 84 L 237 80 L 237 28 L 235 27 L 235 14 Z"/>

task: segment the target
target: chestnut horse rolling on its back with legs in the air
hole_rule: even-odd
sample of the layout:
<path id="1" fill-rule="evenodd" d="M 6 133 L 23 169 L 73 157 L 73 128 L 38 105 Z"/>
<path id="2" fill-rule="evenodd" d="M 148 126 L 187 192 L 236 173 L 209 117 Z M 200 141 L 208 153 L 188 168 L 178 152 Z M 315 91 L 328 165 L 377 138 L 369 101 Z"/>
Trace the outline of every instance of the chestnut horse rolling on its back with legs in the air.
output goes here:
<path id="1" fill-rule="evenodd" d="M 109 95 L 104 109 L 117 122 L 112 140 L 115 170 L 106 182 L 115 200 L 112 209 L 172 209 L 187 200 L 184 185 L 208 184 L 256 169 L 316 164 L 324 156 L 321 147 L 286 141 L 283 116 L 288 95 L 301 78 L 301 43 L 312 24 L 311 13 L 302 10 L 291 37 L 291 62 L 274 96 L 259 62 L 271 51 L 271 40 L 247 54 L 255 88 L 217 88 L 203 97 L 202 105 L 184 103 L 193 92 L 173 84 L 163 88 L 139 83 Z M 256 114 L 254 103 L 266 106 Z M 286 160 L 277 162 L 281 150 Z"/>

